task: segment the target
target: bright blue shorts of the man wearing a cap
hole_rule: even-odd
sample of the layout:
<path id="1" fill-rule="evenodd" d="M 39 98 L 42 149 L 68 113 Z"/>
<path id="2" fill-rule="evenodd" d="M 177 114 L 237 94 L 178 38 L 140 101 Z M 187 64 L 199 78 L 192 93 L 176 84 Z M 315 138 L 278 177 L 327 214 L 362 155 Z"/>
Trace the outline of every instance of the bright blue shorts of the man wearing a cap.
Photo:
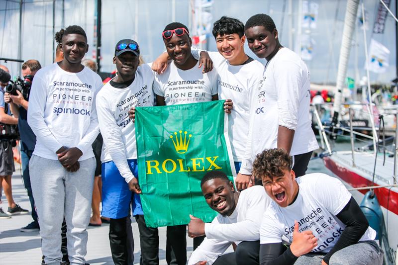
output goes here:
<path id="1" fill-rule="evenodd" d="M 138 178 L 136 159 L 127 160 L 128 166 Z M 133 216 L 144 214 L 138 194 L 128 189 L 128 184 L 122 177 L 113 161 L 102 163 L 102 211 L 101 216 L 118 219 L 130 215 L 130 204 Z"/>

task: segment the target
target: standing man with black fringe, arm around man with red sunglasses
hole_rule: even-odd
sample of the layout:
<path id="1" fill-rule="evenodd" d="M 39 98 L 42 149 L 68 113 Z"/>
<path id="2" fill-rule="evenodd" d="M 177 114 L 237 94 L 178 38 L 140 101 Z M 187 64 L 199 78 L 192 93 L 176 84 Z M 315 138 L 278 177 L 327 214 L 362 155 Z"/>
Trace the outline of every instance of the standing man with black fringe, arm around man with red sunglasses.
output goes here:
<path id="1" fill-rule="evenodd" d="M 228 134 L 235 170 L 238 173 L 245 157 L 249 132 L 249 94 L 258 86 L 264 67 L 260 62 L 246 55 L 244 25 L 240 20 L 223 16 L 214 22 L 212 33 L 218 52 L 193 49 L 192 55 L 194 58 L 199 58 L 199 54 L 200 56 L 208 54 L 218 73 L 218 98 L 232 99 L 234 107 L 228 115 Z M 165 71 L 162 68 L 165 63 L 166 57 L 161 55 L 152 65 L 152 69 L 158 72 Z M 249 182 L 250 177 L 238 174 L 237 189 L 247 188 L 250 185 Z"/>

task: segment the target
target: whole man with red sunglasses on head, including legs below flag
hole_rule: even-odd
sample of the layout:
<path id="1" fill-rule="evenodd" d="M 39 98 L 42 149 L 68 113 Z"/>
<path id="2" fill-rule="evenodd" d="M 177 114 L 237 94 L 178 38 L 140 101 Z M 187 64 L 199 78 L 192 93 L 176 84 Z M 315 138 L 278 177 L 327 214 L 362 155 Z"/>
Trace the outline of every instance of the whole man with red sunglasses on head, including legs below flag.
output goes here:
<path id="1" fill-rule="evenodd" d="M 163 30 L 162 36 L 172 62 L 162 75 L 156 75 L 153 90 L 157 105 L 218 100 L 217 73 L 202 73 L 199 69 L 200 62 L 191 54 L 192 40 L 187 26 L 178 22 L 170 23 Z M 159 264 L 158 229 L 147 227 L 143 216 L 137 216 L 136 220 L 140 229 L 143 264 Z M 186 233 L 186 225 L 167 227 L 167 264 L 187 263 Z"/>

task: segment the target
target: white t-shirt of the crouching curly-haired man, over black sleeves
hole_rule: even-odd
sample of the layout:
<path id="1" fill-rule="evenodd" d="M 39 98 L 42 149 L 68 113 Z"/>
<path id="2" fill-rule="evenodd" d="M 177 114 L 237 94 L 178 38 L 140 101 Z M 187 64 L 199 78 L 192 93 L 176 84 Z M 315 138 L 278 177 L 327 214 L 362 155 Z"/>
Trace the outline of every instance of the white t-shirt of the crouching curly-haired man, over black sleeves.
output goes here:
<path id="1" fill-rule="evenodd" d="M 293 240 L 295 220 L 299 232 L 311 230 L 318 245 L 311 252 L 328 253 L 346 227 L 336 215 L 347 205 L 351 193 L 335 177 L 322 173 L 308 174 L 296 179 L 298 196 L 285 208 L 272 202 L 260 229 L 260 244 L 280 243 L 285 236 Z M 359 241 L 374 240 L 376 231 L 368 227 Z"/>

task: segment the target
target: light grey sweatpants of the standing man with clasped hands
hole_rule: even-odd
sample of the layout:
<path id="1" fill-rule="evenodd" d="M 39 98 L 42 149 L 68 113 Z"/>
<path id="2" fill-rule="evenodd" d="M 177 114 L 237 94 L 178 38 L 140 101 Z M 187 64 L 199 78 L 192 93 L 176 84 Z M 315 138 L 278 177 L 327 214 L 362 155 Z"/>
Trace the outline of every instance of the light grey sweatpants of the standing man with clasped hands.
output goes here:
<path id="1" fill-rule="evenodd" d="M 58 160 L 33 155 L 29 161 L 30 181 L 47 265 L 59 265 L 61 225 L 65 216 L 68 255 L 71 265 L 85 264 L 87 226 L 90 222 L 96 159 L 80 162 L 77 172 L 67 172 Z"/>

